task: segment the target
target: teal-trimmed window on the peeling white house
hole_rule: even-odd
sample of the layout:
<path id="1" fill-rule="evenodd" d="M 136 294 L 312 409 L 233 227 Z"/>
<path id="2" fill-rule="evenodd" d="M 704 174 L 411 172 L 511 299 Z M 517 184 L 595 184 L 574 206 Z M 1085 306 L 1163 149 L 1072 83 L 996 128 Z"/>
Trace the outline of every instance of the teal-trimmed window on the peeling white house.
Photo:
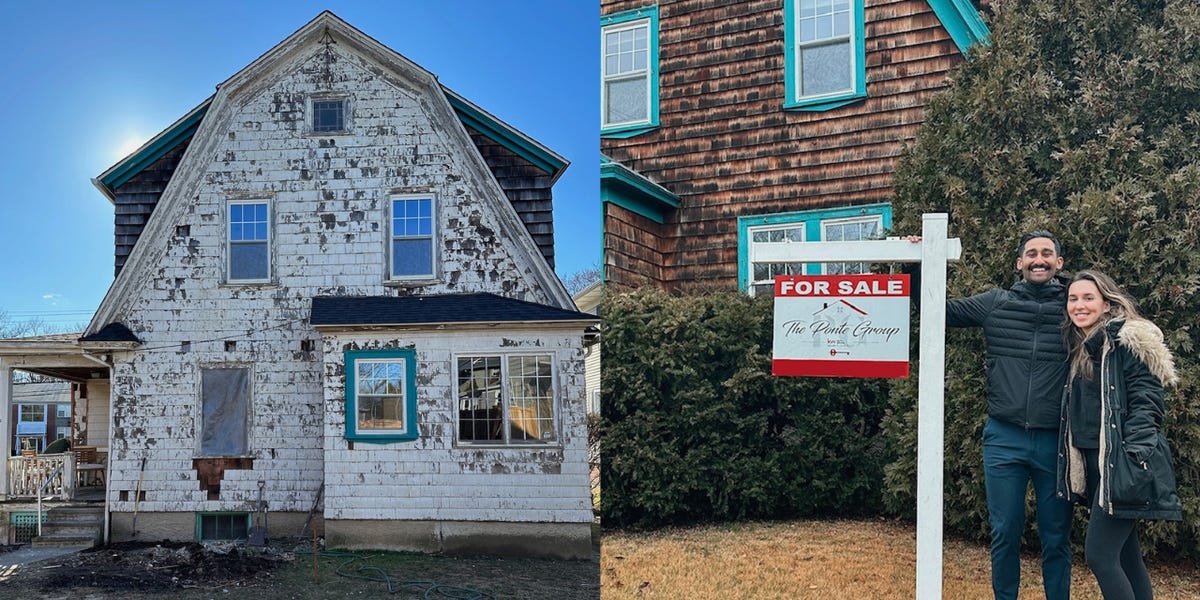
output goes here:
<path id="1" fill-rule="evenodd" d="M 416 350 L 346 352 L 346 439 L 416 439 Z"/>

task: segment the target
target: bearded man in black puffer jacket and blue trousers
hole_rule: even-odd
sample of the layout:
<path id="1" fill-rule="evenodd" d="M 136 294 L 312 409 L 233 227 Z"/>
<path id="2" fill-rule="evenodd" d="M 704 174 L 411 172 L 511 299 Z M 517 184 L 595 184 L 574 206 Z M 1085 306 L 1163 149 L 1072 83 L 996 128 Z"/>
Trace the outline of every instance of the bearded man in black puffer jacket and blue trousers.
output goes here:
<path id="1" fill-rule="evenodd" d="M 988 342 L 988 424 L 984 478 L 991 523 L 991 584 L 996 600 L 1016 600 L 1025 493 L 1037 492 L 1042 576 L 1046 600 L 1070 594 L 1070 503 L 1056 494 L 1058 404 L 1067 383 L 1061 325 L 1066 287 L 1058 240 L 1031 232 L 1018 247 L 1021 280 L 946 304 L 946 324 L 982 326 Z"/>

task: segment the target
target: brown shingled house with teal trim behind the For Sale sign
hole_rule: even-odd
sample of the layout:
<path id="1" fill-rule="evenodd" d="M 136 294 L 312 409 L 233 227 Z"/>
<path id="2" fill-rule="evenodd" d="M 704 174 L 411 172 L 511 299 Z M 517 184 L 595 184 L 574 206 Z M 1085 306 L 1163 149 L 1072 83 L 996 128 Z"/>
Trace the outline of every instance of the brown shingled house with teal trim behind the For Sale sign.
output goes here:
<path id="1" fill-rule="evenodd" d="M 979 4 L 984 6 L 985 4 Z M 988 29 L 967 0 L 601 0 L 604 275 L 860 272 L 756 258 L 892 224 L 892 174 Z"/>

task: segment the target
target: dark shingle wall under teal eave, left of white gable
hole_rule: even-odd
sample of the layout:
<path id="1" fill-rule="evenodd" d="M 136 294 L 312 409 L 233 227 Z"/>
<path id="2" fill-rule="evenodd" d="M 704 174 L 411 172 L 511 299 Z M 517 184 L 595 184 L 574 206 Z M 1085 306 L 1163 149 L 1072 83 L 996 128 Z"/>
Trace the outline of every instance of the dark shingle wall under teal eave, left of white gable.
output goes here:
<path id="1" fill-rule="evenodd" d="M 113 191 L 115 217 L 115 272 L 120 275 L 133 245 L 142 236 L 162 191 L 175 173 L 191 140 L 184 142 Z"/>

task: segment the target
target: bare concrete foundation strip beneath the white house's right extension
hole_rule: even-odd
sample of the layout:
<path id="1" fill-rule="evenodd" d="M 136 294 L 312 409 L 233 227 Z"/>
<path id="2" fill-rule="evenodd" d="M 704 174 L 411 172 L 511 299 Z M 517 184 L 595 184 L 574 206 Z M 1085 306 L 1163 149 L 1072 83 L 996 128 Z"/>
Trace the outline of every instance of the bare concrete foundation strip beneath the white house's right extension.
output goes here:
<path id="1" fill-rule="evenodd" d="M 325 546 L 446 554 L 590 559 L 590 523 L 325 521 Z"/>

